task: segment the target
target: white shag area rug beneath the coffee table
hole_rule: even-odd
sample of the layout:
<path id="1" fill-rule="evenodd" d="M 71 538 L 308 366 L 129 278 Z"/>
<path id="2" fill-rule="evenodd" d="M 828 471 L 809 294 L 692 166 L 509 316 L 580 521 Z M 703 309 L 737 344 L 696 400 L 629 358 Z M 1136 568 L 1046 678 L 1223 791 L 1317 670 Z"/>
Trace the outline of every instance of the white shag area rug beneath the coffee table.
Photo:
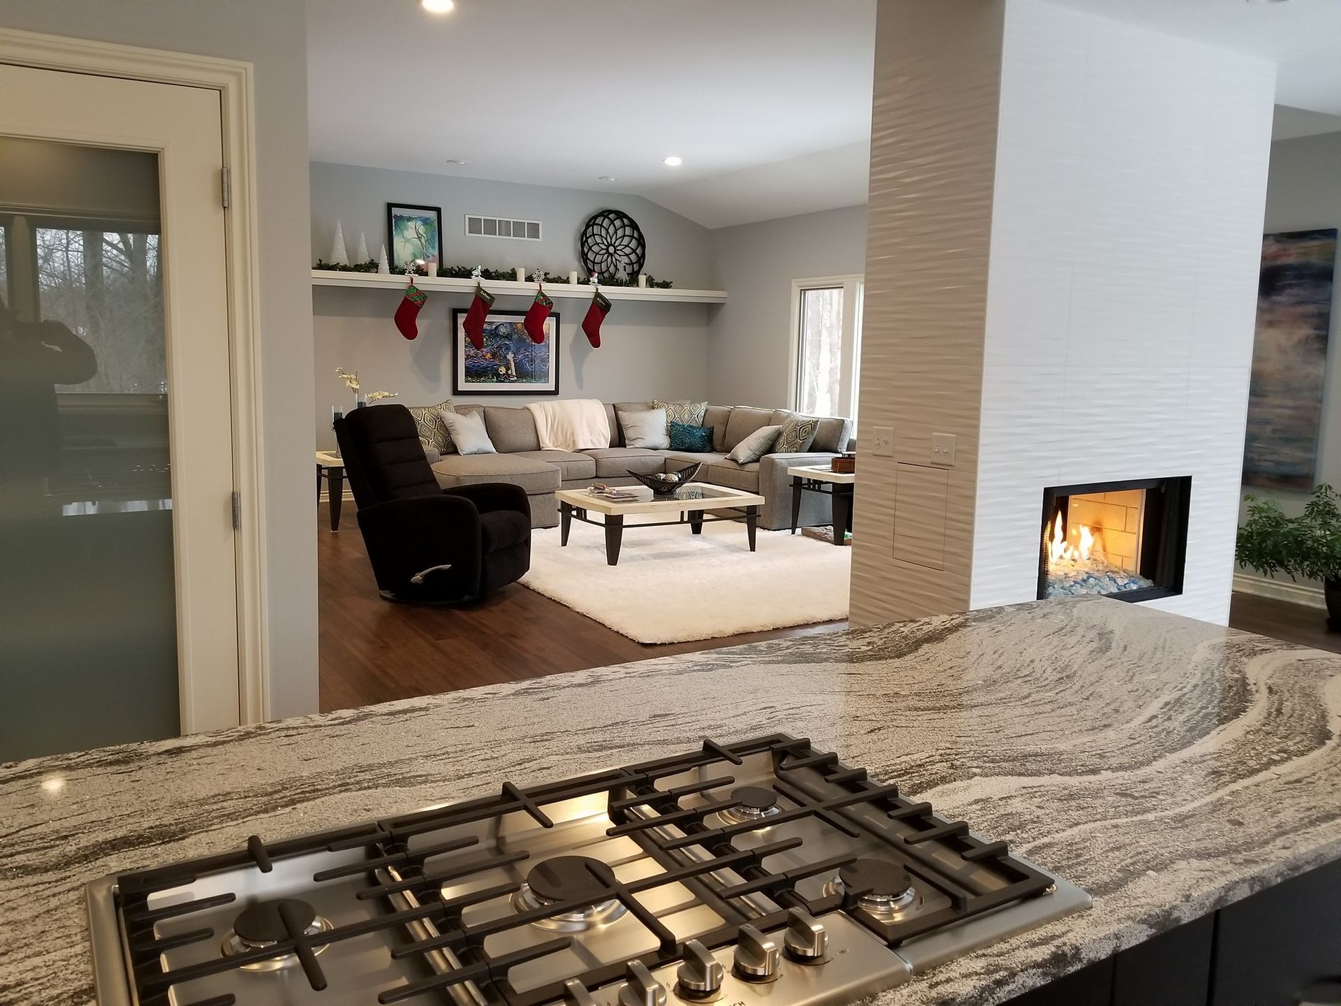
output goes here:
<path id="1" fill-rule="evenodd" d="M 595 519 L 599 519 L 597 516 Z M 759 530 L 751 553 L 746 526 L 704 523 L 638 527 L 625 518 L 620 565 L 605 561 L 605 531 L 573 522 L 531 535 L 531 571 L 522 585 L 638 642 L 684 642 L 848 617 L 852 549 L 787 531 Z"/>

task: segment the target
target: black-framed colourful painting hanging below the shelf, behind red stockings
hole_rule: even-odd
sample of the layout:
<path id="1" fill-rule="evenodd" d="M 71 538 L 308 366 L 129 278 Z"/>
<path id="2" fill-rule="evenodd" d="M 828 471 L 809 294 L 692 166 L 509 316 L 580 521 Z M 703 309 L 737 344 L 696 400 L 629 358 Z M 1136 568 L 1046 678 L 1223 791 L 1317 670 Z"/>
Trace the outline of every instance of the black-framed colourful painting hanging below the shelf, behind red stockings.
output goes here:
<path id="1" fill-rule="evenodd" d="M 484 347 L 465 338 L 465 311 L 452 311 L 456 331 L 453 394 L 558 394 L 559 315 L 544 321 L 544 342 L 531 342 L 522 327 L 524 311 L 489 311 Z"/>

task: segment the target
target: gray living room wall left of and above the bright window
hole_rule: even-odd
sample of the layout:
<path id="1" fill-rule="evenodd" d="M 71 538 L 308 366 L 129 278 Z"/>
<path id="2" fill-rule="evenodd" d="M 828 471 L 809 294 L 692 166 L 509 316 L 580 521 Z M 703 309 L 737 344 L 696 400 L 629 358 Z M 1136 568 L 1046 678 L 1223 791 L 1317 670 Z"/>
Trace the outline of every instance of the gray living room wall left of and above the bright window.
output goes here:
<path id="1" fill-rule="evenodd" d="M 730 299 L 709 309 L 708 400 L 786 405 L 791 280 L 864 272 L 866 207 L 725 227 L 712 239 Z"/>

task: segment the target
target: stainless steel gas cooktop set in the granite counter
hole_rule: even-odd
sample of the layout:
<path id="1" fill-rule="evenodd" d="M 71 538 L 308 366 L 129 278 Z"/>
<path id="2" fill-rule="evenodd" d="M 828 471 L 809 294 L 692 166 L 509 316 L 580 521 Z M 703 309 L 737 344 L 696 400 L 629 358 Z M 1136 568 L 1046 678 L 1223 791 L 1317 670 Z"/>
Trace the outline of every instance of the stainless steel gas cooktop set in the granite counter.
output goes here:
<path id="1" fill-rule="evenodd" d="M 101 1006 L 846 1003 L 1089 904 L 782 734 L 89 885 Z"/>

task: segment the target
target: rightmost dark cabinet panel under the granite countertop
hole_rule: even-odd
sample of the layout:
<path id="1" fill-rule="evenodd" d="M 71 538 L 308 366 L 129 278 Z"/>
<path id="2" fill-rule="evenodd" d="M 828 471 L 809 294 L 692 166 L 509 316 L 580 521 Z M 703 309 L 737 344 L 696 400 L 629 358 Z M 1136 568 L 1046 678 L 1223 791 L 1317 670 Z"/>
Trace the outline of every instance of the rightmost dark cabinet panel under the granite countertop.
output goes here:
<path id="1" fill-rule="evenodd" d="M 1222 908 L 1211 1006 L 1341 1003 L 1341 862 Z"/>

